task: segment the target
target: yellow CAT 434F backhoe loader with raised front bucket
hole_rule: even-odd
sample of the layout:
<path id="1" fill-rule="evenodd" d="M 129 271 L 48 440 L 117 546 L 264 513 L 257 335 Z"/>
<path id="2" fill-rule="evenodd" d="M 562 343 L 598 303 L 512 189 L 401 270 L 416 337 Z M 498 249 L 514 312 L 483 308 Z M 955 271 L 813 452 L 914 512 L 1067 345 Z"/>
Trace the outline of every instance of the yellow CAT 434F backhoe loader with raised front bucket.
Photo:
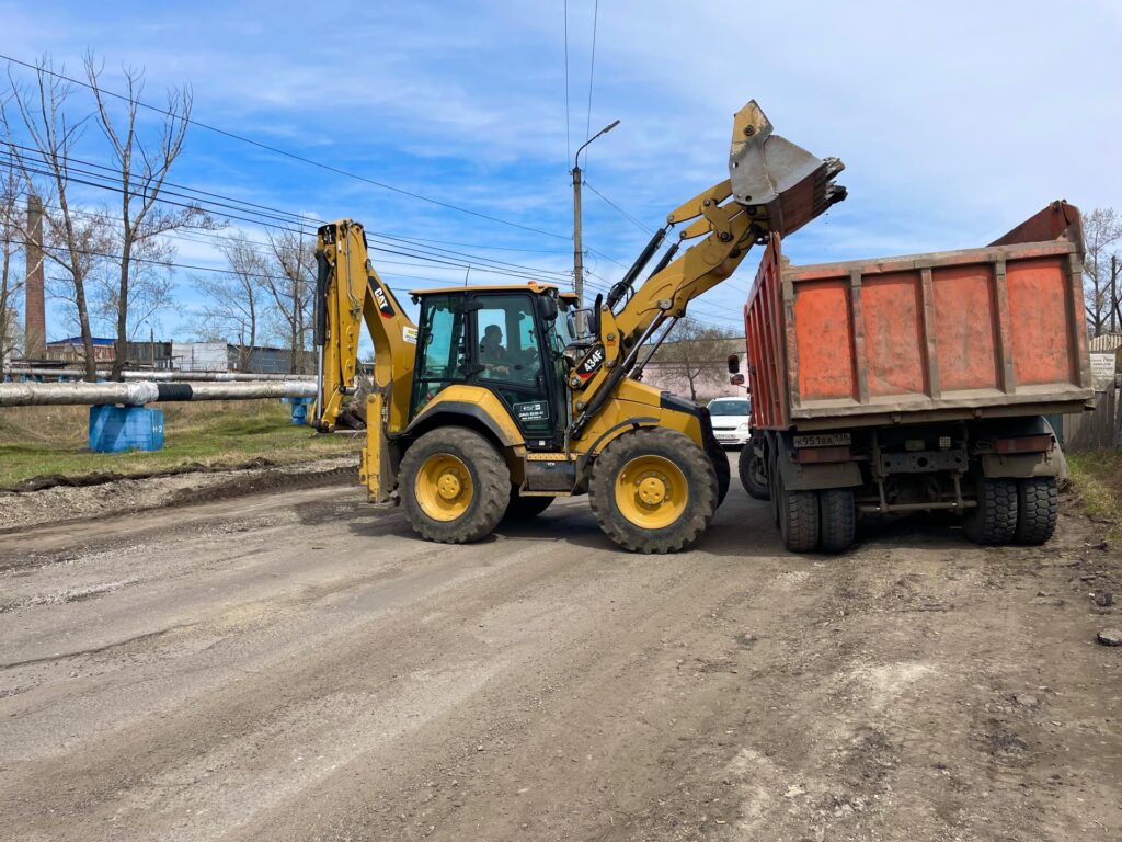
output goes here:
<path id="1" fill-rule="evenodd" d="M 419 323 L 371 265 L 358 222 L 319 230 L 318 399 L 330 431 L 356 388 L 359 331 L 374 340 L 361 482 L 432 541 L 461 543 L 587 493 L 604 532 L 673 552 L 728 488 L 709 413 L 640 382 L 690 301 L 729 277 L 771 231 L 788 235 L 845 198 L 836 158 L 772 134 L 755 101 L 734 118 L 729 177 L 682 204 L 576 332 L 577 300 L 550 284 L 411 293 Z M 670 245 L 640 280 L 674 226 Z M 682 250 L 681 244 L 698 240 Z"/>

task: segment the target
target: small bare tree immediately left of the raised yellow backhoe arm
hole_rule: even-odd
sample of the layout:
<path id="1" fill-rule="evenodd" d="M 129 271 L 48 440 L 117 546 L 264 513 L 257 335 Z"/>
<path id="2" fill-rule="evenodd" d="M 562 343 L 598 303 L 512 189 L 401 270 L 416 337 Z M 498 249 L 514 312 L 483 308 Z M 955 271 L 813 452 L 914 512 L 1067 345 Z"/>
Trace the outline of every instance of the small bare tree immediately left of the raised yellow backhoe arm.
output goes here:
<path id="1" fill-rule="evenodd" d="M 315 244 L 298 231 L 269 234 L 276 274 L 267 273 L 263 286 L 273 299 L 279 331 L 289 353 L 289 372 L 304 374 L 312 292 L 315 290 Z"/>

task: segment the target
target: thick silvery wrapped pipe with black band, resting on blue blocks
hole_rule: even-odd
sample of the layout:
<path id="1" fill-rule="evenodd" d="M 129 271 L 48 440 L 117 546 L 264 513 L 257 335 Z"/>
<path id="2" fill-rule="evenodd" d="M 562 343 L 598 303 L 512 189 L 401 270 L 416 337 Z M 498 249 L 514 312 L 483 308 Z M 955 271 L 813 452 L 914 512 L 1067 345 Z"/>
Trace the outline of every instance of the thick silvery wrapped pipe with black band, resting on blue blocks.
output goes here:
<path id="1" fill-rule="evenodd" d="M 315 383 L 0 383 L 0 406 L 81 406 L 173 401 L 252 401 L 314 397 Z"/>

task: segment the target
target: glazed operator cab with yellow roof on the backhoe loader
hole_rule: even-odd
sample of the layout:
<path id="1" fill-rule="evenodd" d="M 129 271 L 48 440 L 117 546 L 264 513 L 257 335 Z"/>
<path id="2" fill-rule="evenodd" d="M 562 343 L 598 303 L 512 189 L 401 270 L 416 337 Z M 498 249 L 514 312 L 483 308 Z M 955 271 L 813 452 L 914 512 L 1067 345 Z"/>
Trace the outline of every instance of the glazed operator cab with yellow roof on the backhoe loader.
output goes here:
<path id="1" fill-rule="evenodd" d="M 539 283 L 411 295 L 421 313 L 410 421 L 448 386 L 481 386 L 504 403 L 531 450 L 563 446 L 563 354 L 576 340 L 576 295 Z"/>

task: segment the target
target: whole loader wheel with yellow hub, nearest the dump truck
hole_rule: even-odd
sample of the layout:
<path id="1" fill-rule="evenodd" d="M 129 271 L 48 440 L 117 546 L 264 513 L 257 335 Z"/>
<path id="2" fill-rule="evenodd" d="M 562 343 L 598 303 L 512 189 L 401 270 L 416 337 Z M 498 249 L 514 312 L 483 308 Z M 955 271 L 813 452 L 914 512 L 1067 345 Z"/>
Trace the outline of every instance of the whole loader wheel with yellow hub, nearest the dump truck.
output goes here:
<path id="1" fill-rule="evenodd" d="M 611 441 L 588 486 L 592 514 L 620 547 L 677 552 L 692 544 L 717 511 L 717 475 L 683 433 L 644 428 Z"/>

